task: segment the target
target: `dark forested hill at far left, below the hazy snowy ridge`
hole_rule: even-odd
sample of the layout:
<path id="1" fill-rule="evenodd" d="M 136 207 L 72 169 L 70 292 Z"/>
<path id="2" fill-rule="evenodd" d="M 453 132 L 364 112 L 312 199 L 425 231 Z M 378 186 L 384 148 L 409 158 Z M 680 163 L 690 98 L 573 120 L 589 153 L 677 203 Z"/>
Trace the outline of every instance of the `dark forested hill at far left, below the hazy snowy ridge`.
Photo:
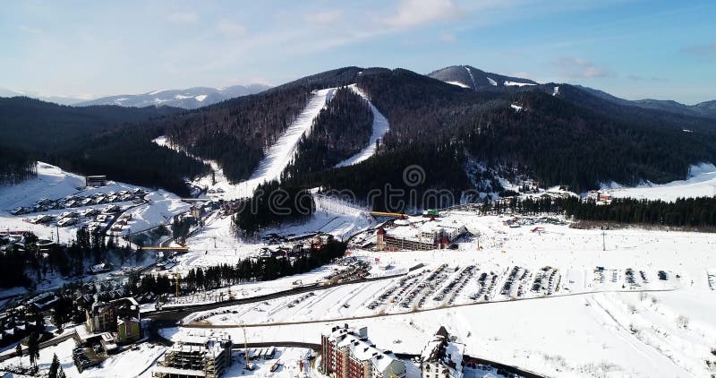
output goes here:
<path id="1" fill-rule="evenodd" d="M 184 178 L 209 167 L 151 142 L 164 133 L 161 117 L 175 107 L 67 107 L 38 99 L 0 99 L 0 178 L 16 183 L 44 160 L 79 174 L 107 175 L 186 195 Z"/>

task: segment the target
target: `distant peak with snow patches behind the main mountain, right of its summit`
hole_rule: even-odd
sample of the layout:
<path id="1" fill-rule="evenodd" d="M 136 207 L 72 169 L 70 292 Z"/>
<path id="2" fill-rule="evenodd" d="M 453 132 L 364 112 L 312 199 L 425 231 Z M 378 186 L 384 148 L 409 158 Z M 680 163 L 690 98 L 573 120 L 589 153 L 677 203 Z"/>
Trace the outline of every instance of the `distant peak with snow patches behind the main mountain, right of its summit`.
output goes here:
<path id="1" fill-rule="evenodd" d="M 535 85 L 529 79 L 505 76 L 499 73 L 486 73 L 471 65 L 452 65 L 428 73 L 433 79 L 457 85 L 463 88 L 477 90 L 480 87 L 508 87 Z"/>

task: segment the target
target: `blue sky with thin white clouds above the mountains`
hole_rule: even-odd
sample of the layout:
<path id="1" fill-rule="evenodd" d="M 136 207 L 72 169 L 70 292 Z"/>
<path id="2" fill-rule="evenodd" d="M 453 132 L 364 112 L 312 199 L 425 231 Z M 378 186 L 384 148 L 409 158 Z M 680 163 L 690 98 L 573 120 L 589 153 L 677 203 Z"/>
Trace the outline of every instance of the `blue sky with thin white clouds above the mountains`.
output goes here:
<path id="1" fill-rule="evenodd" d="M 716 1 L 0 2 L 0 88 L 43 96 L 455 64 L 625 99 L 716 99 Z"/>

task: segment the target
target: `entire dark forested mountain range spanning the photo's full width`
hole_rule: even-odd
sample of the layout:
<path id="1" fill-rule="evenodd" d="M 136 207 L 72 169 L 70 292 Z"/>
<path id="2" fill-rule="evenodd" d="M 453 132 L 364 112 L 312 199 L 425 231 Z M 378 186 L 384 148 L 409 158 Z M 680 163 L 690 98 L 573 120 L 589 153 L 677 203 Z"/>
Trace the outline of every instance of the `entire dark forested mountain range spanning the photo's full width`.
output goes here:
<path id="1" fill-rule="evenodd" d="M 183 179 L 208 168 L 187 160 L 183 152 L 149 145 L 163 134 L 192 156 L 216 161 L 231 182 L 241 182 L 255 173 L 289 127 L 297 120 L 306 122 L 302 115 L 315 102 L 316 90 L 325 93 L 346 86 L 362 97 L 343 91 L 338 102 L 316 108 L 318 113 L 306 125 L 317 133 L 304 133 L 291 147 L 295 156 L 311 159 L 289 158 L 282 185 L 350 189 L 361 195 L 386 183 L 405 186 L 404 168 L 419 165 L 425 171 L 424 182 L 406 189 L 458 193 L 477 185 L 481 193 L 499 193 L 503 188 L 496 172 L 501 172 L 500 176 L 530 176 L 541 185 L 564 185 L 579 192 L 608 182 L 635 185 L 684 179 L 691 165 L 716 161 L 713 102 L 690 110 L 670 102 L 656 107 L 581 86 L 538 83 L 466 65 L 428 75 L 343 67 L 189 111 L 164 107 L 160 112 L 123 114 L 113 110 L 124 108 L 117 106 L 53 107 L 68 125 L 83 125 L 82 137 L 62 149 L 47 146 L 46 141 L 33 153 L 81 173 L 105 172 L 124 181 L 182 191 Z M 370 99 L 370 107 L 364 99 Z M 55 117 L 52 112 L 42 116 L 42 108 L 49 111 L 51 104 L 42 104 L 5 103 L 0 121 L 6 125 L 10 116 L 12 125 L 33 125 L 38 135 L 43 127 L 55 133 L 56 125 L 47 122 Z M 370 159 L 334 168 L 336 161 L 366 147 L 375 112 L 389 128 L 375 143 Z M 112 115 L 115 127 L 92 126 L 93 119 L 107 120 L 98 118 L 103 114 Z M 73 124 L 73 117 L 81 122 Z M 346 133 L 345 127 L 351 131 Z M 4 144 L 38 144 L 30 135 L 24 139 L 30 142 L 21 138 Z M 487 170 L 469 168 L 477 166 Z"/>

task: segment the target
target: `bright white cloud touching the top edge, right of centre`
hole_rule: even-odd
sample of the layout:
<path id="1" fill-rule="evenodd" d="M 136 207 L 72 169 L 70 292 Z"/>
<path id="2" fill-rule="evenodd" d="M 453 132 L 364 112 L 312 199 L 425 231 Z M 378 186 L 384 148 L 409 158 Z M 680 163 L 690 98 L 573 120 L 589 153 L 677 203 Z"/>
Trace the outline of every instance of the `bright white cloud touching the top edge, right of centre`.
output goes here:
<path id="1" fill-rule="evenodd" d="M 452 0 L 400 0 L 396 13 L 385 22 L 396 28 L 409 28 L 435 21 L 455 20 L 463 11 Z"/>

